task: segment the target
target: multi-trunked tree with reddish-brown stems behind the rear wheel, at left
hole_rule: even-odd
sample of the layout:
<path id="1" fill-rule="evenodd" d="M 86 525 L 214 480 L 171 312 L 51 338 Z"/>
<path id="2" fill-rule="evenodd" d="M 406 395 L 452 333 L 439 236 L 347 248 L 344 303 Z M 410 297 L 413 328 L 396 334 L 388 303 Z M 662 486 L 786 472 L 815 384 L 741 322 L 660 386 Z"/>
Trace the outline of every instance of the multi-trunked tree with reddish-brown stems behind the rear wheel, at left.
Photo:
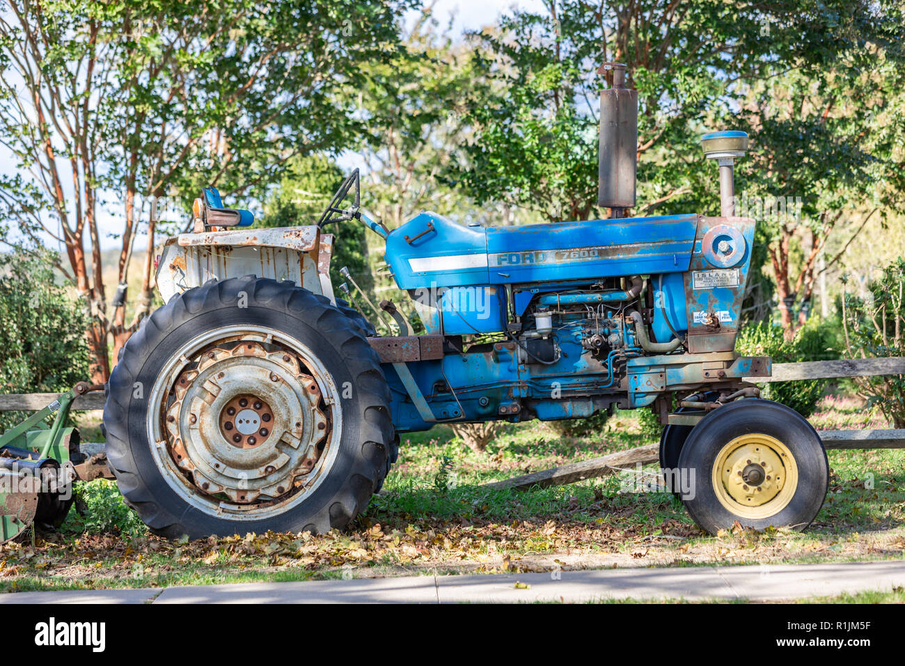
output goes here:
<path id="1" fill-rule="evenodd" d="M 357 136 L 359 65 L 397 42 L 411 0 L 213 3 L 6 0 L 0 15 L 0 141 L 17 173 L 0 204 L 24 236 L 65 247 L 61 269 L 90 312 L 94 381 L 108 344 L 128 338 L 150 304 L 151 251 L 135 320 L 108 303 L 98 216 L 122 206 L 125 283 L 142 199 L 191 200 L 201 185 L 261 192 L 293 155 L 337 150 Z M 86 248 L 87 244 L 87 248 Z"/>

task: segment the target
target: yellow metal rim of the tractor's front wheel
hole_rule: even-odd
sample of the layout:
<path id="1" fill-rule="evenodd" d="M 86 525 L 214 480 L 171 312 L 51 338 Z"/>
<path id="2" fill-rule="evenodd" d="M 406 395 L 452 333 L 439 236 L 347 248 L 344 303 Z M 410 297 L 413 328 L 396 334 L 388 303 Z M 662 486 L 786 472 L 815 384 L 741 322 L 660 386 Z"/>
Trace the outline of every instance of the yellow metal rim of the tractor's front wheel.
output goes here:
<path id="1" fill-rule="evenodd" d="M 775 437 L 742 435 L 719 450 L 713 462 L 713 489 L 731 513 L 753 520 L 776 516 L 798 487 L 792 451 Z"/>

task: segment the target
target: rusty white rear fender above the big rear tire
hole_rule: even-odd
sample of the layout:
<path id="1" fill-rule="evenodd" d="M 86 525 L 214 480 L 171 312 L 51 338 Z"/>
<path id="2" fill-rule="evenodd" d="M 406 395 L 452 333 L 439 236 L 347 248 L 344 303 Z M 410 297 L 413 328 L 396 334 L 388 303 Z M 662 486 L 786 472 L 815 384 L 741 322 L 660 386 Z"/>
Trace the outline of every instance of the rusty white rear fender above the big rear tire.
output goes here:
<path id="1" fill-rule="evenodd" d="M 333 236 L 316 226 L 229 229 L 167 238 L 157 259 L 157 291 L 167 303 L 208 280 L 258 275 L 291 280 L 335 303 L 329 277 Z"/>

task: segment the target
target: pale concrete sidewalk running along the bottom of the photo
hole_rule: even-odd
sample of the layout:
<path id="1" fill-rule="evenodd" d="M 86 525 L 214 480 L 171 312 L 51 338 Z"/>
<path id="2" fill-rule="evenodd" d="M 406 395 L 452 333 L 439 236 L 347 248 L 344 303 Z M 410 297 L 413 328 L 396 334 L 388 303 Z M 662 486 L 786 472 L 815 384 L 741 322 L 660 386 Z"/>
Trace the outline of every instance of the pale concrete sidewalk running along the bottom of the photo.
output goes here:
<path id="1" fill-rule="evenodd" d="M 162 591 L 23 592 L 0 594 L 0 603 L 574 603 L 626 598 L 772 601 L 890 591 L 897 586 L 905 586 L 903 561 L 424 575 L 187 585 Z"/>

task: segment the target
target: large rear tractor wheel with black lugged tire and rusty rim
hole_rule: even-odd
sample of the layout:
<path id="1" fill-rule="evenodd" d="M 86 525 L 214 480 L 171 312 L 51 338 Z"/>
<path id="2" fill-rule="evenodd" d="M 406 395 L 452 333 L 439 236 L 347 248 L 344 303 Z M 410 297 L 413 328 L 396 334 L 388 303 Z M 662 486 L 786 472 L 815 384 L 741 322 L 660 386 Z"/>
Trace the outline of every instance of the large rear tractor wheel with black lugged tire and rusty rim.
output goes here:
<path id="1" fill-rule="evenodd" d="M 104 407 L 110 468 L 162 536 L 323 533 L 386 476 L 389 400 L 360 324 L 326 298 L 211 281 L 123 348 Z"/>

